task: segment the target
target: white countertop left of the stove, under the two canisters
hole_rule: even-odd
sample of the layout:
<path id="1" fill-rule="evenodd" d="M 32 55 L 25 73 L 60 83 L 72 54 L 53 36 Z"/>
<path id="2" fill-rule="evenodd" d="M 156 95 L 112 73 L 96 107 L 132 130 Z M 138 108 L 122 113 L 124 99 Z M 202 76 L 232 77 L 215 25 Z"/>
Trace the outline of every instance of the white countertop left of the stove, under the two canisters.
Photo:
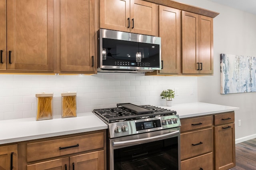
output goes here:
<path id="1" fill-rule="evenodd" d="M 36 121 L 36 118 L 0 121 L 0 144 L 89 132 L 108 128 L 92 112 L 78 113 L 77 117 Z"/>

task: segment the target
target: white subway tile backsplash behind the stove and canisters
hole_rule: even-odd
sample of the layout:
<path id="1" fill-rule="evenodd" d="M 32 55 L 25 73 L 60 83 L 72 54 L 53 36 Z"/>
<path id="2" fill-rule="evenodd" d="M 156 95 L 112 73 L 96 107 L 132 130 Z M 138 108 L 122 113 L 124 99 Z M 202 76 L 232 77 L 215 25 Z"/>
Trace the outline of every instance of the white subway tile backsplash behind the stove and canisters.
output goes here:
<path id="1" fill-rule="evenodd" d="M 61 114 L 61 93 L 77 92 L 77 113 L 116 107 L 116 103 L 165 105 L 160 93 L 178 88 L 176 103 L 197 102 L 197 77 L 98 75 L 0 75 L 0 120 L 36 117 L 36 93 L 54 93 L 54 115 Z"/>

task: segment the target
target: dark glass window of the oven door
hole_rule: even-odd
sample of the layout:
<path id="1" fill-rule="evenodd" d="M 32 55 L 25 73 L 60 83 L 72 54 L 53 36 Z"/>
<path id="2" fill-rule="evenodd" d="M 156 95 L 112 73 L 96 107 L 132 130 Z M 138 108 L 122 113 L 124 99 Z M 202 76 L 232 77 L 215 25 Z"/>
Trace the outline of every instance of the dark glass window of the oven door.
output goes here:
<path id="1" fill-rule="evenodd" d="M 114 150 L 114 170 L 178 170 L 178 137 Z"/>

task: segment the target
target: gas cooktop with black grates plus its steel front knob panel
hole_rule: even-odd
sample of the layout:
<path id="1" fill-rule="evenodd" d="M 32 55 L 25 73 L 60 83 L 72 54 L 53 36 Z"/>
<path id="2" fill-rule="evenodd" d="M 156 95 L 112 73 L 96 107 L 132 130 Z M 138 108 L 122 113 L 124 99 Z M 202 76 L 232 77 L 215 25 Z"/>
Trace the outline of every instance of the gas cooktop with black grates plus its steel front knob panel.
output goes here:
<path id="1" fill-rule="evenodd" d="M 94 109 L 93 113 L 108 125 L 109 138 L 129 136 L 180 127 L 176 111 L 151 106 L 117 104 L 117 107 Z"/>

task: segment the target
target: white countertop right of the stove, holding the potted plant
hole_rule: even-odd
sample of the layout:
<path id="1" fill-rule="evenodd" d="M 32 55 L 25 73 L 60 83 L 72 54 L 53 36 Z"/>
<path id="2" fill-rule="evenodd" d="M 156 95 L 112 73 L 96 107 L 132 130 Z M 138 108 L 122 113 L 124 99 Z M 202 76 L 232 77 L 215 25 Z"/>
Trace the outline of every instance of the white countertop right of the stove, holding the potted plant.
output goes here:
<path id="1" fill-rule="evenodd" d="M 182 103 L 182 104 L 177 104 L 170 107 L 168 106 L 159 106 L 159 107 L 176 111 L 180 119 L 239 110 L 239 107 L 215 105 L 215 104 L 201 103 L 201 102 Z"/>

